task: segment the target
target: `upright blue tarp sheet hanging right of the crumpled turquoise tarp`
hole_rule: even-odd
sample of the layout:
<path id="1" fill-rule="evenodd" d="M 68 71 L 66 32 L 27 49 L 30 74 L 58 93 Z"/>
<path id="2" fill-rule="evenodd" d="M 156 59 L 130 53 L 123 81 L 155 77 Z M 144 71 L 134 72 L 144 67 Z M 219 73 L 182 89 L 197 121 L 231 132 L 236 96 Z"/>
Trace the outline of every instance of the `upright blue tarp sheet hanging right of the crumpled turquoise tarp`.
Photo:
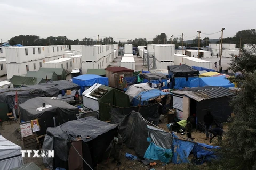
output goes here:
<path id="1" fill-rule="evenodd" d="M 174 164 L 188 163 L 188 156 L 194 147 L 194 143 L 190 141 L 183 141 L 176 137 L 172 143 L 173 157 L 172 162 Z"/>

